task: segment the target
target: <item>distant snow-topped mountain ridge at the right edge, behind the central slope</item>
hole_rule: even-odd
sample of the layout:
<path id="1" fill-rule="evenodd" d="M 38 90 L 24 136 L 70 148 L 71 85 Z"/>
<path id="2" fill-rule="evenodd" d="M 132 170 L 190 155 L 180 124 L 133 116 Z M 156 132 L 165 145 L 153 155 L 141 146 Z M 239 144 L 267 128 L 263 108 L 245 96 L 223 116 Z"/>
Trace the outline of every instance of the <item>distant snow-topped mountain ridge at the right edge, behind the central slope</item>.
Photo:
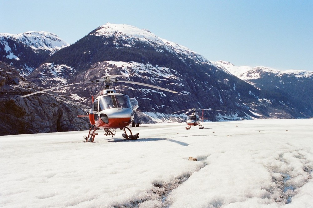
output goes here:
<path id="1" fill-rule="evenodd" d="M 225 61 L 214 62 L 229 70 L 238 78 L 267 90 L 272 95 L 285 100 L 285 105 L 292 103 L 296 109 L 306 115 L 313 112 L 313 72 L 304 70 L 280 71 L 272 68 L 237 67 Z"/>

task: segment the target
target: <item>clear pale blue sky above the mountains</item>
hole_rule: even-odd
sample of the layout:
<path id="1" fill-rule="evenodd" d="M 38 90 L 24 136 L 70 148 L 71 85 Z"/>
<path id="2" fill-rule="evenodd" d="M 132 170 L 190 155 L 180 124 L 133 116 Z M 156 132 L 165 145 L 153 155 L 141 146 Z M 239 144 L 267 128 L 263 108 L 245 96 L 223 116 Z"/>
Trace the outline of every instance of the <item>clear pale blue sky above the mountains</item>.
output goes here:
<path id="1" fill-rule="evenodd" d="M 107 22 L 148 29 L 208 60 L 313 71 L 313 1 L 0 0 L 0 33 L 73 44 Z"/>

